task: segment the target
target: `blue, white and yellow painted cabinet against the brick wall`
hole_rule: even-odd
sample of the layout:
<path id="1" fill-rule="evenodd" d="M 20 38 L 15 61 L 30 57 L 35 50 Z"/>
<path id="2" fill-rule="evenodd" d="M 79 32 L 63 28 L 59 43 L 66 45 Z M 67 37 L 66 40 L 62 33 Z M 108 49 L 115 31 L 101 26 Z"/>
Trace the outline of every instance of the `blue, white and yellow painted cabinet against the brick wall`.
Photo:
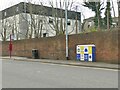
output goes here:
<path id="1" fill-rule="evenodd" d="M 95 62 L 96 48 L 94 44 L 91 45 L 77 45 L 76 46 L 76 59 L 80 61 Z"/>

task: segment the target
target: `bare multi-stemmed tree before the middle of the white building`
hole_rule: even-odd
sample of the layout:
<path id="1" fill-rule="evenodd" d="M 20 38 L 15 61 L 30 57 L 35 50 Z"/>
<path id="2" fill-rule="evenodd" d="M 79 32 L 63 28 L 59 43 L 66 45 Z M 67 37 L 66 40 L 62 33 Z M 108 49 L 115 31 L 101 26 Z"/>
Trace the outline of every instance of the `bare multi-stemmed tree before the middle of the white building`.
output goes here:
<path id="1" fill-rule="evenodd" d="M 41 7 L 36 8 L 35 4 L 32 4 L 32 0 L 28 1 L 28 4 L 26 4 L 26 11 L 28 11 L 29 14 L 25 13 L 26 18 L 23 15 L 21 15 L 21 17 L 28 24 L 28 29 L 26 31 L 26 38 L 32 38 L 32 37 L 40 38 L 42 36 L 45 16 L 41 16 L 40 14 L 44 13 L 45 8 L 43 7 L 43 4 L 41 2 L 39 2 L 39 4 Z"/>

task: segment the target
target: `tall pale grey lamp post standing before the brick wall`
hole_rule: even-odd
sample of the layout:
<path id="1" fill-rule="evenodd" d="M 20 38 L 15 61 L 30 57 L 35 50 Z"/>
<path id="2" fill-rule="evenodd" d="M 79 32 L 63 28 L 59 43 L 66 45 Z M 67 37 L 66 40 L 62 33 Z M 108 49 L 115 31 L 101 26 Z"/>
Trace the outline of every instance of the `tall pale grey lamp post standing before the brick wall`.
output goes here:
<path id="1" fill-rule="evenodd" d="M 68 60 L 68 19 L 67 19 L 67 0 L 65 1 L 65 20 L 66 20 L 66 59 Z"/>

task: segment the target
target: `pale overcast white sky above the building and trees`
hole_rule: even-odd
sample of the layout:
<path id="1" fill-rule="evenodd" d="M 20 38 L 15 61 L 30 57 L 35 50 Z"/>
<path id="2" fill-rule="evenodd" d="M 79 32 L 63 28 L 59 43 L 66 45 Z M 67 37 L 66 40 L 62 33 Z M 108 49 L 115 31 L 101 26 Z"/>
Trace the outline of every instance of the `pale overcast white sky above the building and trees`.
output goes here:
<path id="1" fill-rule="evenodd" d="M 8 7 L 12 6 L 12 5 L 23 2 L 23 1 L 32 1 L 34 3 L 43 2 L 44 5 L 49 5 L 48 1 L 53 1 L 54 3 L 56 3 L 56 1 L 59 2 L 60 0 L 0 0 L 0 11 L 5 9 L 5 8 L 8 8 Z M 72 0 L 68 0 L 68 1 L 70 2 Z M 75 3 L 73 4 L 72 9 L 74 9 L 74 7 L 76 7 L 76 5 L 77 5 L 78 6 L 77 11 L 82 12 L 83 15 L 85 16 L 84 17 L 82 15 L 82 20 L 84 18 L 93 17 L 95 15 L 94 12 L 92 12 L 88 8 L 85 8 L 82 5 L 80 5 L 80 4 L 82 4 L 83 0 L 73 0 L 73 1 L 75 1 Z M 106 0 L 101 0 L 101 1 L 106 1 Z M 114 1 L 113 3 L 114 3 L 114 8 L 115 8 L 115 16 L 117 17 L 118 16 L 117 0 L 113 0 L 113 1 Z M 113 11 L 111 11 L 111 12 L 112 12 L 112 15 L 113 15 Z M 104 17 L 104 13 L 102 14 L 102 17 Z"/>

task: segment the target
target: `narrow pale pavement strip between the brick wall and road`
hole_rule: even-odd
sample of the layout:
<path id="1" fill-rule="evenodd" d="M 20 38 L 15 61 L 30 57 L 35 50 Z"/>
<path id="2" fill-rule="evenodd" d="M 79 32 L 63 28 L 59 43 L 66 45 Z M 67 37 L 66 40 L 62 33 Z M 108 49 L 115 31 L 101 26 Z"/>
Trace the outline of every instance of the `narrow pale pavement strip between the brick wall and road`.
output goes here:
<path id="1" fill-rule="evenodd" d="M 52 63 L 52 64 L 63 64 L 63 65 L 72 65 L 72 66 L 84 66 L 84 67 L 95 67 L 95 68 L 106 68 L 106 69 L 118 69 L 120 70 L 120 64 L 109 64 L 103 62 L 83 62 L 75 60 L 50 60 L 50 59 L 31 59 L 27 57 L 16 57 L 9 56 L 0 57 L 7 60 L 16 60 L 16 61 L 27 61 L 27 62 L 42 62 L 42 63 Z"/>

